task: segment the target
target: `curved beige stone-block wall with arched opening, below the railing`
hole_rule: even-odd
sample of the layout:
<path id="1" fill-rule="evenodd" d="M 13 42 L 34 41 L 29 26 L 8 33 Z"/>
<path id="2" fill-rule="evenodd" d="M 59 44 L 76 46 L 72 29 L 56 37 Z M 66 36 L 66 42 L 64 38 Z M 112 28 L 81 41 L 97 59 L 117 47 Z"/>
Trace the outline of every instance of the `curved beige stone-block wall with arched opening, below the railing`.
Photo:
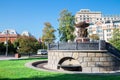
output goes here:
<path id="1" fill-rule="evenodd" d="M 58 70 L 59 62 L 65 57 L 78 61 L 81 72 L 104 73 L 120 69 L 120 61 L 106 50 L 49 50 L 48 53 L 48 67 L 55 70 Z"/>

